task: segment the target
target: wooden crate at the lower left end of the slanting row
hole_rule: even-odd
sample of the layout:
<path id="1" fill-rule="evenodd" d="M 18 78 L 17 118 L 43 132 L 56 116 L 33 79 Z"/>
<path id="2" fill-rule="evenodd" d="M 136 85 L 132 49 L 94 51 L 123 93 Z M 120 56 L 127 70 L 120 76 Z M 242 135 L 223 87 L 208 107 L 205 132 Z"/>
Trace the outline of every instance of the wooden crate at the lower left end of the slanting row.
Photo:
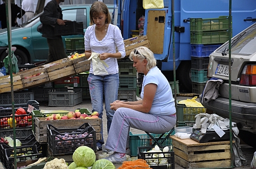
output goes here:
<path id="1" fill-rule="evenodd" d="M 0 93 L 11 91 L 11 80 L 9 77 L 10 75 L 5 75 L 0 77 Z M 17 91 L 23 88 L 22 79 L 19 74 L 13 75 L 12 82 L 14 86 L 14 91 Z"/>

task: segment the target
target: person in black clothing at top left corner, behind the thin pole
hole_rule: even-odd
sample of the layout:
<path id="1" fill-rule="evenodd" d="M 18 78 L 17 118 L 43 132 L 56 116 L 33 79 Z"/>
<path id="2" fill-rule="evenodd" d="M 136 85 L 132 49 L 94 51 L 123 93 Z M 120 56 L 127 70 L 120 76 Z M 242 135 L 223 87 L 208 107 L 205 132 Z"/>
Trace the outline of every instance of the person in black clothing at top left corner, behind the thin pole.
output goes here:
<path id="1" fill-rule="evenodd" d="M 0 5 L 0 21 L 1 21 L 2 29 L 7 28 L 5 8 L 6 8 L 5 0 L 3 0 L 3 3 Z M 11 26 L 12 27 L 16 26 L 17 25 L 17 17 L 22 18 L 22 16 L 24 14 L 25 14 L 24 10 L 20 9 L 20 7 L 18 7 L 18 5 L 11 3 Z"/>

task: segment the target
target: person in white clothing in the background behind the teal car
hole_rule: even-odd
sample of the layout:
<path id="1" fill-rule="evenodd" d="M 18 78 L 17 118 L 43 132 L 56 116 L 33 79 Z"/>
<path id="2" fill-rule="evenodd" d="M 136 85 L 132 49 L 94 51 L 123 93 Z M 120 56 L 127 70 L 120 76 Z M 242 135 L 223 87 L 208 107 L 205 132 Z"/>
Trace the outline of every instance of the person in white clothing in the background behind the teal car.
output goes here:
<path id="1" fill-rule="evenodd" d="M 23 16 L 23 23 L 30 20 L 34 16 L 34 2 L 33 0 L 23 0 L 22 9 L 25 11 Z"/>

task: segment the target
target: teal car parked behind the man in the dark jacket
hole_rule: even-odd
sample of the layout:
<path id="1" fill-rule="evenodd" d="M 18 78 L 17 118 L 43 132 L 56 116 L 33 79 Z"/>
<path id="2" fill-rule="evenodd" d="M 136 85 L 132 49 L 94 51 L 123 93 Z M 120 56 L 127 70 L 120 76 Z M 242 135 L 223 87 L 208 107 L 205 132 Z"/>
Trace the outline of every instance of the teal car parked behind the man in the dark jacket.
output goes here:
<path id="1" fill-rule="evenodd" d="M 62 5 L 63 19 L 76 22 L 83 22 L 84 32 L 89 26 L 89 9 L 91 5 Z M 113 12 L 113 5 L 109 5 L 109 11 Z M 37 26 L 41 24 L 40 16 L 42 13 L 36 15 L 31 20 L 25 22 L 19 27 L 11 28 L 11 43 L 17 49 L 14 52 L 18 58 L 18 64 L 37 63 L 47 60 L 48 57 L 48 44 L 46 38 L 37 31 Z M 65 38 L 83 37 L 79 35 L 62 36 L 65 43 Z M 0 61 L 3 61 L 8 47 L 7 29 L 0 30 Z"/>

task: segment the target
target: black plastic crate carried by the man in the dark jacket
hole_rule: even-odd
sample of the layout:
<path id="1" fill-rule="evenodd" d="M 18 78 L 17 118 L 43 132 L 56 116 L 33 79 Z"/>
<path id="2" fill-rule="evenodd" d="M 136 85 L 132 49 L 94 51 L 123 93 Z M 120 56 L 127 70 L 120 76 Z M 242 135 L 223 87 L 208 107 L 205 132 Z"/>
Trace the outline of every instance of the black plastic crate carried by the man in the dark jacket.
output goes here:
<path id="1" fill-rule="evenodd" d="M 84 34 L 83 23 L 75 21 L 66 22 L 65 25 L 56 25 L 54 27 L 54 35 L 74 35 Z"/>

